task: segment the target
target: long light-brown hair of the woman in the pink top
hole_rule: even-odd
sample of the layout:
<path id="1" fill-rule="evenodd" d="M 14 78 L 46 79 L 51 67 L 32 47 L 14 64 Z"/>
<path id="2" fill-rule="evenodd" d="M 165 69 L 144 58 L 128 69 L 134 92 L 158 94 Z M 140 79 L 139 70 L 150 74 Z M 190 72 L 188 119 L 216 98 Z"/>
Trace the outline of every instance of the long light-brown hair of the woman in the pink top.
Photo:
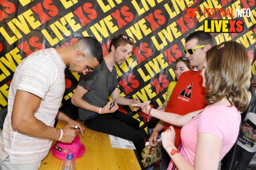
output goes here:
<path id="1" fill-rule="evenodd" d="M 226 98 L 239 111 L 246 110 L 249 99 L 250 61 L 245 47 L 236 41 L 212 46 L 206 52 L 205 102 L 214 104 Z"/>

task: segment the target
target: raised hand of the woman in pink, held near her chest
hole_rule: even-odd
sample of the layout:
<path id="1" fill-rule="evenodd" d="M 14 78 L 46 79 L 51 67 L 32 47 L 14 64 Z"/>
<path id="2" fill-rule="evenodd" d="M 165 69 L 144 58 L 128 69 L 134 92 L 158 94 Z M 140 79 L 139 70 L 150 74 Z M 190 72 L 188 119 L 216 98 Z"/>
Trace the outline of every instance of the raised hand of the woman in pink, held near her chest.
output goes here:
<path id="1" fill-rule="evenodd" d="M 162 132 L 162 144 L 163 148 L 166 150 L 168 147 L 174 147 L 175 142 L 175 130 L 173 126 L 170 126 L 169 129 Z"/>

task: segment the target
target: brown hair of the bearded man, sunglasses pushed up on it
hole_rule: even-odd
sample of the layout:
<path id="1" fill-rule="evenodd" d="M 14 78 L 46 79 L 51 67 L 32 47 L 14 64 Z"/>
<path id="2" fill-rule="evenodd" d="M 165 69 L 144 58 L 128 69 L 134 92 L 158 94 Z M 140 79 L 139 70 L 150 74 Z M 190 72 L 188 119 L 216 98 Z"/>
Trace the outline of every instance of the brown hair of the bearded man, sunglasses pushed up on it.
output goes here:
<path id="1" fill-rule="evenodd" d="M 127 37 L 127 39 L 123 38 L 122 35 Z M 114 37 L 111 39 L 111 43 L 110 43 L 110 47 L 109 47 L 109 53 L 111 52 L 111 46 L 112 45 L 115 48 L 117 48 L 120 45 L 124 46 L 126 44 L 131 44 L 132 46 L 134 46 L 134 40 L 131 41 L 130 39 L 133 40 L 133 38 L 131 38 L 130 36 L 128 36 L 127 34 L 124 34 L 124 33 L 114 35 Z"/>

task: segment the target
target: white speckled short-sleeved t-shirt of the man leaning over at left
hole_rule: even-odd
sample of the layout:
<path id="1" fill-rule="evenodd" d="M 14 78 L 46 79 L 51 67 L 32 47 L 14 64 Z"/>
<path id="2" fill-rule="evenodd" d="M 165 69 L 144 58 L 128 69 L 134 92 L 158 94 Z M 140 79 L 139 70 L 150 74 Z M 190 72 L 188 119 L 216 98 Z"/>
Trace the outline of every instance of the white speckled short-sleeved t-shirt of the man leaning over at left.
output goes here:
<path id="1" fill-rule="evenodd" d="M 65 92 L 65 68 L 54 48 L 36 51 L 17 66 L 9 89 L 8 114 L 0 134 L 2 161 L 9 155 L 10 163 L 29 164 L 44 159 L 48 154 L 52 139 L 30 137 L 12 129 L 13 102 L 17 89 L 39 96 L 41 102 L 34 115 L 53 127 Z"/>

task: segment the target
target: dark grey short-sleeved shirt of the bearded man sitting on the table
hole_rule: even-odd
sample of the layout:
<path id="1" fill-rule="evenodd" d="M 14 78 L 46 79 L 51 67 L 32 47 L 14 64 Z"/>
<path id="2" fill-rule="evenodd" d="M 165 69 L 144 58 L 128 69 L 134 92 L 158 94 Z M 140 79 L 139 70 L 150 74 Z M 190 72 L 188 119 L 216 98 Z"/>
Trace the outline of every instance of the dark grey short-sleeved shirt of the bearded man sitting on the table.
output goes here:
<path id="1" fill-rule="evenodd" d="M 103 107 L 108 103 L 108 97 L 118 87 L 116 67 L 111 72 L 103 59 L 102 63 L 93 72 L 80 76 L 78 85 L 89 90 L 83 95 L 82 100 L 94 106 Z M 78 109 L 78 116 L 82 121 L 95 114 L 98 113 Z"/>

